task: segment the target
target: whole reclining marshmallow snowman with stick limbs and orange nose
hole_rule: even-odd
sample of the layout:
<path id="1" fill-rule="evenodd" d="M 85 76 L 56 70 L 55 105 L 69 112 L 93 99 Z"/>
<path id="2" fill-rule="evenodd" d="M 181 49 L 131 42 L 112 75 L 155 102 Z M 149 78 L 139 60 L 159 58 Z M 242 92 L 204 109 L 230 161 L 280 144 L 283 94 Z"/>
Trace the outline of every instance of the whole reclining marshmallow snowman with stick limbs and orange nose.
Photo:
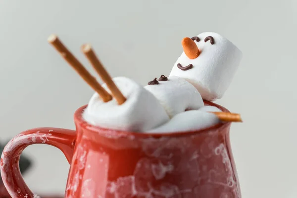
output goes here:
<path id="1" fill-rule="evenodd" d="M 204 38 L 204 43 L 200 38 Z M 239 49 L 216 33 L 185 38 L 184 53 L 170 76 L 162 75 L 159 81 L 155 78 L 145 88 L 126 77 L 111 79 L 92 47 L 84 45 L 82 51 L 105 82 L 101 86 L 55 35 L 48 41 L 96 91 L 82 115 L 89 124 L 115 130 L 165 133 L 205 128 L 220 119 L 232 120 L 230 115 L 225 119 L 224 113 L 207 112 L 220 109 L 204 106 L 202 99 L 222 97 L 242 56 Z M 234 120 L 240 120 L 235 116 Z"/>

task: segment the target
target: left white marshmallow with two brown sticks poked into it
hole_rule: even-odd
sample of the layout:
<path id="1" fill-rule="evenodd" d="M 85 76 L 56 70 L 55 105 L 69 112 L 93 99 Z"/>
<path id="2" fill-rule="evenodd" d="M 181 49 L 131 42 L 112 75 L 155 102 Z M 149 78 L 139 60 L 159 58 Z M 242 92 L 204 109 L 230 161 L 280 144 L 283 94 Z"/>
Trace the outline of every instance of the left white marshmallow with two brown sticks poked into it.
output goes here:
<path id="1" fill-rule="evenodd" d="M 103 102 L 95 93 L 83 113 L 88 123 L 109 129 L 141 132 L 169 120 L 159 101 L 141 85 L 126 77 L 116 77 L 113 81 L 127 100 L 121 105 L 114 98 Z M 102 87 L 108 90 L 105 84 Z"/>

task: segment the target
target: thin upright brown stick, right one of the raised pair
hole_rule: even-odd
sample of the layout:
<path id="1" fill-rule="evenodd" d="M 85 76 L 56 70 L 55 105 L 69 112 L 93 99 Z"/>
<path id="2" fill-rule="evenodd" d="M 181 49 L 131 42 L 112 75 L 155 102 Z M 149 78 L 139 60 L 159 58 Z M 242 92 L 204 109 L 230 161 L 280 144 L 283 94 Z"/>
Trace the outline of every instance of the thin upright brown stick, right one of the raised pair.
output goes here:
<path id="1" fill-rule="evenodd" d="M 101 77 L 102 81 L 106 83 L 108 89 L 110 90 L 112 96 L 116 99 L 117 103 L 121 105 L 126 101 L 126 98 L 118 89 L 118 87 L 113 82 L 112 78 L 103 67 L 102 63 L 100 62 L 99 58 L 95 54 L 94 50 L 92 49 L 91 45 L 83 45 L 82 51 L 96 70 L 96 72 Z"/>

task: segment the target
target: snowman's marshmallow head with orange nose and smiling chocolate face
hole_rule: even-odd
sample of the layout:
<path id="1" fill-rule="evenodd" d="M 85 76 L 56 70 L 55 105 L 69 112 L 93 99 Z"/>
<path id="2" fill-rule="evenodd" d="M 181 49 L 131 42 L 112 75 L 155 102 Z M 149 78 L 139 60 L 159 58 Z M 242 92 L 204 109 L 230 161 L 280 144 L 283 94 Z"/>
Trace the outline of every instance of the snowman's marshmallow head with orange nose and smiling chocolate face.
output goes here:
<path id="1" fill-rule="evenodd" d="M 228 89 L 242 59 L 242 52 L 217 33 L 204 32 L 182 40 L 184 52 L 170 76 L 193 84 L 203 99 L 220 99 Z"/>

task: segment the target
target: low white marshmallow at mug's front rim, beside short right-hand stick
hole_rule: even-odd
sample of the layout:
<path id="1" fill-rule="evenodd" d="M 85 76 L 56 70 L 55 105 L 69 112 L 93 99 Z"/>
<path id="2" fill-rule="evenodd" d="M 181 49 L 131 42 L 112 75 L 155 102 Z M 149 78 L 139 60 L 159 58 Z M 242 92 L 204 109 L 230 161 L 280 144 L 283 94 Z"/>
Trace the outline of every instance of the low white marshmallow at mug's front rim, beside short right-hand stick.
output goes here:
<path id="1" fill-rule="evenodd" d="M 205 129 L 220 122 L 217 116 L 206 111 L 221 111 L 214 106 L 190 110 L 175 115 L 167 123 L 149 130 L 147 133 L 174 133 Z"/>

